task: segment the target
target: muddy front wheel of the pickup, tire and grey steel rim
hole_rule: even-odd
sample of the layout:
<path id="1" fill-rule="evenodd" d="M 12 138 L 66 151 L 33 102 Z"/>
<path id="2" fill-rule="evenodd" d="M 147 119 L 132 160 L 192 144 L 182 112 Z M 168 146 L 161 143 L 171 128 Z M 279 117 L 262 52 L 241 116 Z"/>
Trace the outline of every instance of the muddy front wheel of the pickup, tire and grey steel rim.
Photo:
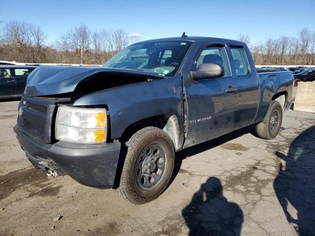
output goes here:
<path id="1" fill-rule="evenodd" d="M 146 127 L 126 142 L 126 159 L 116 192 L 133 204 L 145 204 L 165 190 L 174 169 L 175 152 L 161 129 Z"/>

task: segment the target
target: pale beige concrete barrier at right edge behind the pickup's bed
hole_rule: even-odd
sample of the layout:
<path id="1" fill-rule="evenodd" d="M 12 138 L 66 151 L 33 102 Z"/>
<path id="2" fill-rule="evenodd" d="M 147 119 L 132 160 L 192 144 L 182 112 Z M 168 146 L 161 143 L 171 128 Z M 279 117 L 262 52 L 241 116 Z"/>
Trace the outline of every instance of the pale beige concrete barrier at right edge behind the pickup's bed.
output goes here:
<path id="1" fill-rule="evenodd" d="M 315 81 L 299 82 L 293 110 L 315 113 Z"/>

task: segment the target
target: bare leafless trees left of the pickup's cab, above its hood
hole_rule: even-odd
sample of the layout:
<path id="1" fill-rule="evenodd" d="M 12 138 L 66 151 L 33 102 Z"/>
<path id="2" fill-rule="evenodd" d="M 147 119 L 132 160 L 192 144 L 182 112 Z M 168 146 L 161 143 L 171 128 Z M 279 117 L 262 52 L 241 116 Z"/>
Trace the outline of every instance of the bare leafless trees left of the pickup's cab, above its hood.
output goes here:
<path id="1" fill-rule="evenodd" d="M 1 22 L 0 22 L 1 23 Z M 103 64 L 141 35 L 125 29 L 92 31 L 85 24 L 61 32 L 47 45 L 47 35 L 36 24 L 20 21 L 0 25 L 0 60 L 28 63 Z"/>

